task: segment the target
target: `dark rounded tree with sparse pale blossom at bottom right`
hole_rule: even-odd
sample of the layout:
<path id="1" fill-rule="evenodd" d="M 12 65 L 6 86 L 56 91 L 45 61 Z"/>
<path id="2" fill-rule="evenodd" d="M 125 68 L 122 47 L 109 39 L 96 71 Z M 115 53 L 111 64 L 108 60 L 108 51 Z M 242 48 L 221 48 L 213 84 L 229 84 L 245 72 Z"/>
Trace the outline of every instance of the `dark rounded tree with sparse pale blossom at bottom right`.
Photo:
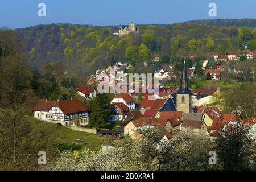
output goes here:
<path id="1" fill-rule="evenodd" d="M 249 162 L 253 156 L 253 141 L 248 135 L 250 126 L 242 124 L 240 119 L 234 122 L 236 123 L 221 130 L 216 138 L 218 167 L 228 171 L 253 169 Z"/>

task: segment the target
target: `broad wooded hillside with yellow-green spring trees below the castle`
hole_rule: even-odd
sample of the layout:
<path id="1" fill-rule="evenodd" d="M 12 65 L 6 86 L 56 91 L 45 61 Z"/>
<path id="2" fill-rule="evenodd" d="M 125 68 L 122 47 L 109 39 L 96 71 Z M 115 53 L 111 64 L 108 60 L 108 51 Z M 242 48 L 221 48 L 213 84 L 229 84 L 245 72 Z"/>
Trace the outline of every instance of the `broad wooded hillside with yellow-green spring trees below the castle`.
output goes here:
<path id="1" fill-rule="evenodd" d="M 229 24 L 228 20 L 209 22 L 215 21 Z M 236 21 L 249 26 L 250 21 L 256 20 Z M 61 63 L 65 71 L 81 78 L 117 60 L 138 65 L 144 61 L 150 63 L 158 55 L 162 63 L 170 63 L 171 59 L 175 64 L 175 57 L 188 53 L 204 58 L 210 51 L 220 54 L 239 51 L 247 42 L 250 49 L 255 49 L 256 29 L 207 26 L 202 24 L 208 24 L 208 20 L 202 22 L 141 25 L 138 34 L 122 37 L 113 35 L 112 28 L 76 24 L 39 25 L 14 31 L 27 45 L 28 61 L 39 70 L 48 69 L 44 67 L 46 63 Z"/>

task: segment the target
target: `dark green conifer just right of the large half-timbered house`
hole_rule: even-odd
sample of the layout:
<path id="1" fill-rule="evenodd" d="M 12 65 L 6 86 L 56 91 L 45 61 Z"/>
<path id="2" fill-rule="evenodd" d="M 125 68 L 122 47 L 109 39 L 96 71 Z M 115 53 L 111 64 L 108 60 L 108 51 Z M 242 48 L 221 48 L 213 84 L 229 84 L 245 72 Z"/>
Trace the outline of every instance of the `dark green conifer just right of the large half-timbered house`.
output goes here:
<path id="1" fill-rule="evenodd" d="M 109 98 L 106 94 L 97 94 L 97 96 L 90 101 L 90 127 L 105 126 L 105 121 L 112 115 L 112 105 L 110 105 L 109 102 Z"/>

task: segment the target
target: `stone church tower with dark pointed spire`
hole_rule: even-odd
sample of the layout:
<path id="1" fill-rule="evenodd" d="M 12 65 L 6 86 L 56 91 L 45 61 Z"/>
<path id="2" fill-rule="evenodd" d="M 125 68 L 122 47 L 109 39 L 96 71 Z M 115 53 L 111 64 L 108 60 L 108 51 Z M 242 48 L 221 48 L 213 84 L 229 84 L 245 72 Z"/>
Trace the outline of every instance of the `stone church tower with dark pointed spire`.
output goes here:
<path id="1" fill-rule="evenodd" d="M 186 62 L 184 60 L 183 72 L 180 78 L 180 88 L 177 92 L 177 111 L 191 113 L 191 91 L 188 88 Z"/>

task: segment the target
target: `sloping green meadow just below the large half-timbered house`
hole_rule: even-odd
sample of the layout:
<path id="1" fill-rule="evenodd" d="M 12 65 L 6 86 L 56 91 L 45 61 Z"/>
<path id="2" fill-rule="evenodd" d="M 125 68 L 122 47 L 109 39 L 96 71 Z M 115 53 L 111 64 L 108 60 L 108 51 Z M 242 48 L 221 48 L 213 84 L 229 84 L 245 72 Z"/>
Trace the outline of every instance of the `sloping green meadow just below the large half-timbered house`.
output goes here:
<path id="1" fill-rule="evenodd" d="M 54 124 L 53 124 L 54 125 Z M 102 137 L 98 134 L 86 133 L 82 131 L 75 131 L 68 129 L 64 126 L 56 126 L 56 134 L 59 140 L 59 150 L 79 150 L 82 151 L 86 147 L 92 150 L 100 150 L 101 146 L 105 144 L 111 144 L 115 138 Z M 84 140 L 85 146 L 74 144 L 76 139 Z"/>

